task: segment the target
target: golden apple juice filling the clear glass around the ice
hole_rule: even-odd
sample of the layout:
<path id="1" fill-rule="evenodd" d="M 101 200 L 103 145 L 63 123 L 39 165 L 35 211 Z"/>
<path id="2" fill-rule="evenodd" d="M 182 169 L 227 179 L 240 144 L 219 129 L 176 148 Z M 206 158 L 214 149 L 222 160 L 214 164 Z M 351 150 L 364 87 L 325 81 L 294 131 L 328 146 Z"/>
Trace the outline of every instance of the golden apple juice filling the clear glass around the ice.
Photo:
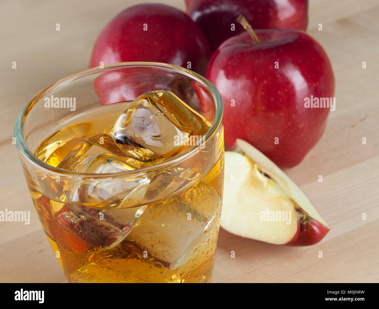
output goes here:
<path id="1" fill-rule="evenodd" d="M 40 183 L 50 182 L 49 192 L 28 182 L 47 239 L 69 282 L 211 282 L 224 178 L 222 127 L 210 149 L 162 170 L 159 164 L 191 145 L 152 159 L 130 140 L 134 155 L 122 151 L 112 130 L 130 104 L 102 106 L 65 120 L 36 149 L 35 156 L 62 173 L 81 173 L 66 183 L 41 177 Z M 195 134 L 209 130 L 200 114 L 183 112 L 200 124 Z M 187 121 L 176 116 L 180 124 Z M 159 130 L 173 127 L 161 122 Z M 104 181 L 91 178 L 98 173 Z M 133 179 L 120 181 L 120 173 L 132 173 Z"/>

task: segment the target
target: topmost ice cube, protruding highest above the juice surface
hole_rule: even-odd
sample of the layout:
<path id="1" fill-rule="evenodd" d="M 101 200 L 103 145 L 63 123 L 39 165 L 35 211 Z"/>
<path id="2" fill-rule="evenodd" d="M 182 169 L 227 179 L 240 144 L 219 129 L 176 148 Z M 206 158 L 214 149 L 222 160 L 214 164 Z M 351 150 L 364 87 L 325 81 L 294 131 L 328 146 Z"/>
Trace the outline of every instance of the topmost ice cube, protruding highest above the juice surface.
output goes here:
<path id="1" fill-rule="evenodd" d="M 146 92 L 120 115 L 111 135 L 122 151 L 139 161 L 170 158 L 192 146 L 192 136 L 198 140 L 208 131 L 195 115 L 172 92 Z"/>

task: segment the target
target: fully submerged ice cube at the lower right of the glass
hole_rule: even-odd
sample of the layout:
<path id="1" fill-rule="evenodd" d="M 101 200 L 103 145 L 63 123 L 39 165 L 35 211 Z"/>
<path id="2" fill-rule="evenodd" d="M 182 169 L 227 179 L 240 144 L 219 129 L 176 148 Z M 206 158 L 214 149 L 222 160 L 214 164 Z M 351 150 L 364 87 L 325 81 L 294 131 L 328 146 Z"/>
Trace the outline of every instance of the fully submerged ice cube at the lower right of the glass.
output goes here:
<path id="1" fill-rule="evenodd" d="M 125 240 L 177 268 L 191 259 L 206 259 L 208 239 L 218 232 L 220 211 L 218 192 L 199 181 L 178 197 L 149 205 Z"/>

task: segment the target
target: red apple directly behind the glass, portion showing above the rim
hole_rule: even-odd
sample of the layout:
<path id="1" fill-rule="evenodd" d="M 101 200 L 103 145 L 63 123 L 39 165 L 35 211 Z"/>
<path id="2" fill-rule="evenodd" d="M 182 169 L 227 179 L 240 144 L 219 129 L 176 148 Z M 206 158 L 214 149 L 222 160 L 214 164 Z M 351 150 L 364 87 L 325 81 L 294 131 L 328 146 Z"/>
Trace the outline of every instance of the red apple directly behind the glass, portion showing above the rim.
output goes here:
<path id="1" fill-rule="evenodd" d="M 184 12 L 147 3 L 125 9 L 106 25 L 97 37 L 89 67 L 100 62 L 152 61 L 204 74 L 209 56 L 204 34 Z"/>

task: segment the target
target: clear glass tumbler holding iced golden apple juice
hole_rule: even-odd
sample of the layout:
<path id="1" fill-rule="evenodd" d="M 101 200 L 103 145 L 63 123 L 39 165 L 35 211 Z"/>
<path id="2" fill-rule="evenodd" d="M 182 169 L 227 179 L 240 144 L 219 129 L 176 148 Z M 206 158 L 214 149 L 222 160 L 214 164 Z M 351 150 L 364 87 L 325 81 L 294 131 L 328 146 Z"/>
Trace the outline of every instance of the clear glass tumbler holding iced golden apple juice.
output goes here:
<path id="1" fill-rule="evenodd" d="M 96 149 L 116 156 L 107 134 L 125 102 L 155 90 L 171 91 L 207 120 L 197 144 L 121 172 L 60 167 L 64 158 L 73 167 Z M 156 62 L 85 70 L 35 95 L 17 118 L 15 137 L 39 220 L 68 282 L 211 282 L 224 137 L 221 97 L 204 77 Z"/>

